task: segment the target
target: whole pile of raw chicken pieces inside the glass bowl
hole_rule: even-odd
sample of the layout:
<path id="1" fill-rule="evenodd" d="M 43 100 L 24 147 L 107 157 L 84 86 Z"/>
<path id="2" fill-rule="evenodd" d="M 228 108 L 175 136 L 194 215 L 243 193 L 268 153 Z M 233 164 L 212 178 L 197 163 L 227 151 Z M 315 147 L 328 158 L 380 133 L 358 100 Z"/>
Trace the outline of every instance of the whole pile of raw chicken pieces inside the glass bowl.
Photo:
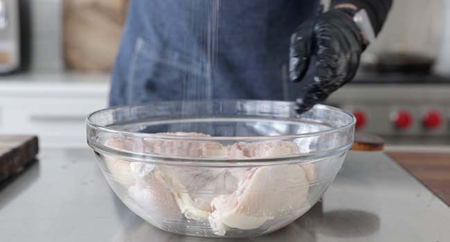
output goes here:
<path id="1" fill-rule="evenodd" d="M 161 136 L 198 136 L 201 133 L 158 133 Z M 116 149 L 134 150 L 130 140 L 111 140 Z M 202 140 L 145 138 L 137 147 L 146 153 L 190 158 L 278 158 L 299 153 L 294 142 L 273 140 L 238 142 L 224 146 Z M 105 157 L 111 176 L 131 186 L 129 206 L 144 218 L 180 218 L 209 221 L 218 235 L 237 228 L 252 230 L 267 221 L 303 214 L 309 209 L 309 182 L 315 178 L 313 164 L 272 165 L 258 168 L 202 168 L 150 165 Z M 280 189 L 282 187 L 282 189 Z M 157 221 L 154 219 L 152 221 Z"/>

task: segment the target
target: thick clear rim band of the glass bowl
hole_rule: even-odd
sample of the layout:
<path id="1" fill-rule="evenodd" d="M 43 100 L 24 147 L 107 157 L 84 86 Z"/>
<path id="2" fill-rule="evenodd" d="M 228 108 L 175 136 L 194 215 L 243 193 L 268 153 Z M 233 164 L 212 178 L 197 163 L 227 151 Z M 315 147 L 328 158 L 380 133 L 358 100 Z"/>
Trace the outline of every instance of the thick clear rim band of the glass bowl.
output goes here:
<path id="1" fill-rule="evenodd" d="M 333 106 L 327 106 L 325 104 L 316 104 L 312 108 L 312 111 L 314 110 L 324 110 L 324 111 L 333 111 L 337 113 L 341 113 L 345 116 L 347 116 L 350 120 L 350 122 L 347 122 L 340 127 L 332 127 L 330 129 L 324 130 L 324 131 L 316 131 L 311 133 L 298 133 L 298 134 L 292 134 L 292 135 L 280 135 L 280 136 L 218 136 L 218 137 L 192 137 L 192 136 L 165 136 L 161 134 L 154 134 L 154 133 L 138 133 L 138 132 L 132 132 L 132 131 L 123 131 L 120 129 L 114 129 L 111 127 L 105 127 L 100 124 L 96 124 L 96 122 L 93 122 L 92 118 L 95 115 L 100 115 L 104 112 L 114 111 L 114 110 L 120 110 L 120 109 L 129 109 L 133 107 L 138 106 L 147 106 L 149 104 L 152 105 L 164 105 L 164 104 L 170 104 L 174 102 L 182 102 L 182 101 L 162 101 L 162 102 L 150 102 L 147 104 L 138 104 L 138 105 L 125 105 L 125 106 L 111 106 L 106 109 L 100 109 L 98 111 L 95 111 L 93 113 L 90 113 L 87 115 L 87 118 L 85 120 L 87 125 L 87 130 L 89 133 L 89 130 L 96 131 L 96 133 L 111 133 L 114 136 L 120 136 L 120 137 L 126 137 L 126 138 L 152 138 L 157 140 L 186 140 L 186 141 L 226 141 L 226 140 L 235 140 L 236 142 L 240 141 L 264 141 L 264 140 L 294 140 L 296 138 L 309 138 L 309 137 L 315 137 L 315 136 L 323 136 L 330 133 L 338 133 L 340 131 L 344 131 L 345 129 L 354 129 L 354 124 L 356 123 L 356 118 L 351 113 L 348 113 L 347 111 L 343 111 L 342 109 L 338 109 Z M 295 102 L 288 102 L 288 101 L 272 101 L 272 100 L 201 100 L 201 101 L 183 101 L 183 102 L 266 102 L 266 103 L 272 103 L 272 104 L 278 104 L 278 105 L 288 105 L 293 106 L 296 105 Z M 348 144 L 345 144 L 341 147 L 334 147 L 334 149 L 327 149 L 324 151 L 318 151 L 318 152 L 312 152 L 312 153 L 300 153 L 298 156 L 289 156 L 289 157 L 282 157 L 282 158 L 258 158 L 258 159 L 242 159 L 242 160 L 230 160 L 229 158 L 221 159 L 221 158 L 170 158 L 165 156 L 157 156 L 154 154 L 147 154 L 147 153 L 137 153 L 133 151 L 122 151 L 118 149 L 111 149 L 107 147 L 104 144 L 100 144 L 98 142 L 95 142 L 94 140 L 91 140 L 91 137 L 87 137 L 88 145 L 94 150 L 98 151 L 99 153 L 106 153 L 111 156 L 115 156 L 117 158 L 125 158 L 127 160 L 138 160 L 138 161 L 145 161 L 150 160 L 152 163 L 161 163 L 165 164 L 165 162 L 173 162 L 171 165 L 193 165 L 192 162 L 215 162 L 215 166 L 220 166 L 221 162 L 245 162 L 247 165 L 251 166 L 251 162 L 258 162 L 259 165 L 260 162 L 267 163 L 269 165 L 270 163 L 277 163 L 280 161 L 283 161 L 283 163 L 289 164 L 293 162 L 298 162 L 298 159 L 301 159 L 305 162 L 308 160 L 316 160 L 318 158 L 323 158 L 327 156 L 332 156 L 336 153 L 340 153 L 343 151 L 346 151 L 352 147 L 353 142 L 350 142 Z M 187 162 L 187 163 L 186 163 Z M 209 165 L 208 165 L 209 166 Z"/>

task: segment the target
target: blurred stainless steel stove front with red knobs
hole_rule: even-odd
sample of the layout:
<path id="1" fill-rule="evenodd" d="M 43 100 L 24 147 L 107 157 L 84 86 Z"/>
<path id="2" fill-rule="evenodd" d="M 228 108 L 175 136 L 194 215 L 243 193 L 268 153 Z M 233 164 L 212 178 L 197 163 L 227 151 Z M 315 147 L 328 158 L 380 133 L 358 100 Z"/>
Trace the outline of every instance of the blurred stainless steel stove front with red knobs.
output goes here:
<path id="1" fill-rule="evenodd" d="M 389 143 L 450 144 L 450 80 L 443 77 L 360 77 L 327 104 L 354 113 L 357 131 Z"/>

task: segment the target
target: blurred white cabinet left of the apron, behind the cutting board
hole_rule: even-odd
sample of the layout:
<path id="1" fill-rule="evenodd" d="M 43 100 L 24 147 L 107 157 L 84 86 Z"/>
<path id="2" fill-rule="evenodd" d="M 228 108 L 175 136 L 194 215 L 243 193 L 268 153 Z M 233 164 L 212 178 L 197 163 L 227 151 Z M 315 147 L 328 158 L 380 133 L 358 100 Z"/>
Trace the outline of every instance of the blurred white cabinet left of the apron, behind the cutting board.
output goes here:
<path id="1" fill-rule="evenodd" d="M 68 74 L 0 77 L 0 134 L 37 134 L 41 147 L 86 147 L 84 118 L 107 106 L 108 79 Z"/>

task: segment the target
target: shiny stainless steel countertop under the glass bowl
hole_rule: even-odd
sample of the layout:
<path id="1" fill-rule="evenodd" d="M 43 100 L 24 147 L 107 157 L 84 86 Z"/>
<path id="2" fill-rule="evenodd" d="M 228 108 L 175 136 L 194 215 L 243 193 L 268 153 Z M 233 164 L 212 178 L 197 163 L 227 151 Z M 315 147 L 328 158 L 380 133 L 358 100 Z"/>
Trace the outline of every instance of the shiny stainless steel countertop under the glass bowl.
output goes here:
<path id="1" fill-rule="evenodd" d="M 235 241 L 450 241 L 450 208 L 383 153 L 350 153 L 322 203 Z M 233 241 L 211 239 L 212 241 Z M 44 149 L 0 188 L 0 241 L 210 241 L 158 230 L 109 189 L 88 149 Z"/>

